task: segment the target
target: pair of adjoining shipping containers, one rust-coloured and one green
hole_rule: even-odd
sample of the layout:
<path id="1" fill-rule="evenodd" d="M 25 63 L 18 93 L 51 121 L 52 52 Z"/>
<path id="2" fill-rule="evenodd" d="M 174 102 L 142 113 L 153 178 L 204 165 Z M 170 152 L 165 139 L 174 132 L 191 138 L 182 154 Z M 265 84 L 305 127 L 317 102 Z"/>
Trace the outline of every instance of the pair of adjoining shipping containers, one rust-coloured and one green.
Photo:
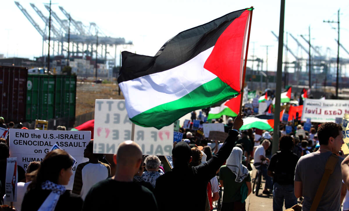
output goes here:
<path id="1" fill-rule="evenodd" d="M 28 74 L 28 68 L 0 66 L 1 110 L 5 122 L 55 120 L 75 123 L 76 76 Z"/>

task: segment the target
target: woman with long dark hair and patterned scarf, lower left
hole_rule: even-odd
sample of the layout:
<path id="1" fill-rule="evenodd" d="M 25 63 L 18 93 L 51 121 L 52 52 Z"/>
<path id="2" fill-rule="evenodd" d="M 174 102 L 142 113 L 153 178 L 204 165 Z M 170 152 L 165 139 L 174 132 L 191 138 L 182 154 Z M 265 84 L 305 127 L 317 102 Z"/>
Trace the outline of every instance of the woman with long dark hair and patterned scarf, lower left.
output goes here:
<path id="1" fill-rule="evenodd" d="M 80 196 L 65 189 L 72 176 L 74 161 L 66 151 L 55 149 L 47 153 L 24 195 L 22 211 L 81 210 Z"/>

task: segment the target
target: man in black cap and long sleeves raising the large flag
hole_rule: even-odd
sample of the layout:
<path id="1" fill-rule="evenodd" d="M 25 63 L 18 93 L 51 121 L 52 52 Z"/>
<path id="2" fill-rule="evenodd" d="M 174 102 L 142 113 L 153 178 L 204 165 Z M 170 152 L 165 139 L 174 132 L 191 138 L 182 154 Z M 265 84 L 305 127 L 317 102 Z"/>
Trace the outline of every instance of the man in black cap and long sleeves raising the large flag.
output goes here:
<path id="1" fill-rule="evenodd" d="M 243 114 L 236 117 L 229 136 L 216 155 L 206 163 L 189 167 L 192 160 L 190 146 L 181 141 L 172 149 L 174 168 L 161 175 L 155 185 L 155 197 L 159 210 L 205 210 L 207 183 L 229 157 L 238 130 L 244 124 Z M 194 185 L 193 185 L 194 184 Z M 180 201 L 176 202 L 176 199 Z"/>

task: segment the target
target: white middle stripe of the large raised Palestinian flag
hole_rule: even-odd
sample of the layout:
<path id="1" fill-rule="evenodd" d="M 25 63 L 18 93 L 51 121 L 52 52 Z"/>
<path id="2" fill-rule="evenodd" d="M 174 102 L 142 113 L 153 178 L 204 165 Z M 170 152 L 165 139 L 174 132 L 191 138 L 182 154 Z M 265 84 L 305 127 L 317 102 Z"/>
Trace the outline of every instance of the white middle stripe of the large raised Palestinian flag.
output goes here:
<path id="1" fill-rule="evenodd" d="M 203 68 L 213 48 L 214 46 L 170 70 L 120 83 L 129 118 L 164 103 L 178 100 L 217 78 L 212 72 Z"/>

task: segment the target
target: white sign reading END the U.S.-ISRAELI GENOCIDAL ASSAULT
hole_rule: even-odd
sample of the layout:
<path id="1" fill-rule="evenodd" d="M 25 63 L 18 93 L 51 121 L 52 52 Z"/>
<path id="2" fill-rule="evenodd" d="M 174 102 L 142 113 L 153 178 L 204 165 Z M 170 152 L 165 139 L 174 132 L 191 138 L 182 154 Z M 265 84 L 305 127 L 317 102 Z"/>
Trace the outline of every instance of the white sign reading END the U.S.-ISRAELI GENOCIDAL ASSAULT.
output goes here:
<path id="1" fill-rule="evenodd" d="M 84 150 L 91 140 L 90 131 L 46 131 L 10 129 L 10 155 L 18 158 L 18 165 L 27 169 L 32 161 L 42 161 L 54 144 L 58 144 L 77 164 L 87 162 Z M 72 190 L 75 168 L 66 189 Z"/>

